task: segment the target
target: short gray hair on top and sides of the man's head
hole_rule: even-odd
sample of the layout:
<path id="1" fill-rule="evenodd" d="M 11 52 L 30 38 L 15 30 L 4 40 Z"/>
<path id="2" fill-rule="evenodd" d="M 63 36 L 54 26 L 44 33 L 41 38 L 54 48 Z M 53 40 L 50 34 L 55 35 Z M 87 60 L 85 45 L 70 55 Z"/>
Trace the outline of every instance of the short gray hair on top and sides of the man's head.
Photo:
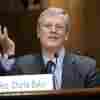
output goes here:
<path id="1" fill-rule="evenodd" d="M 66 24 L 66 30 L 67 32 L 70 31 L 70 16 L 68 13 L 65 12 L 63 8 L 57 8 L 57 7 L 49 7 L 45 9 L 39 16 L 38 22 L 37 22 L 37 28 L 39 28 L 40 24 L 43 22 L 43 18 L 45 16 L 63 16 Z"/>

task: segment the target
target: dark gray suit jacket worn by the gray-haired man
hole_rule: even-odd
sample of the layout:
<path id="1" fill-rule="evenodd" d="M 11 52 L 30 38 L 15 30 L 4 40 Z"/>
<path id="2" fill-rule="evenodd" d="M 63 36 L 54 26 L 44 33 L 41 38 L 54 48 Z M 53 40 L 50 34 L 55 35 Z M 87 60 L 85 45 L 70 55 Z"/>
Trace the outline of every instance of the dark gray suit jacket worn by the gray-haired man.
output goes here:
<path id="1" fill-rule="evenodd" d="M 43 74 L 41 55 L 26 55 L 16 60 L 17 74 Z M 76 54 L 66 54 L 63 60 L 62 88 L 90 88 L 96 83 L 95 60 Z"/>

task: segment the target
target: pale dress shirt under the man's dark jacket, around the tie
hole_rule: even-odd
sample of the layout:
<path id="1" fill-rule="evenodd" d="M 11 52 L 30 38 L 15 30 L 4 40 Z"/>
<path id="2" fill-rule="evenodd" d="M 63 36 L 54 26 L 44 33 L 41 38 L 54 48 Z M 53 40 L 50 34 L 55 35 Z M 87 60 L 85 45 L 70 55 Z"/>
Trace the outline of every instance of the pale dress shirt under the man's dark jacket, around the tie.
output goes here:
<path id="1" fill-rule="evenodd" d="M 57 62 L 56 62 L 56 58 L 54 57 L 52 59 L 52 61 L 56 64 L 56 69 L 55 69 L 55 76 L 57 79 L 57 83 L 56 83 L 56 89 L 60 89 L 61 88 L 61 84 L 62 84 L 62 67 L 63 67 L 63 59 L 65 56 L 65 48 L 61 48 L 58 52 L 58 57 L 57 57 Z M 43 55 L 43 60 L 44 60 L 44 64 L 46 65 L 47 62 L 50 60 L 47 56 L 47 52 L 46 51 L 42 51 L 42 55 Z"/>

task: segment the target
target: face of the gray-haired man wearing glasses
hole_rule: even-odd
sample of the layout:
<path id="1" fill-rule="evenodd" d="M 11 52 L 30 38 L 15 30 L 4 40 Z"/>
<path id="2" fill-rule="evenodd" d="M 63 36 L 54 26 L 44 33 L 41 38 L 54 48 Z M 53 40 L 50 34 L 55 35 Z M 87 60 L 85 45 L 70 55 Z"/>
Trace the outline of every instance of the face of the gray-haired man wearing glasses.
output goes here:
<path id="1" fill-rule="evenodd" d="M 59 48 L 67 37 L 63 16 L 45 16 L 38 33 L 43 48 Z"/>

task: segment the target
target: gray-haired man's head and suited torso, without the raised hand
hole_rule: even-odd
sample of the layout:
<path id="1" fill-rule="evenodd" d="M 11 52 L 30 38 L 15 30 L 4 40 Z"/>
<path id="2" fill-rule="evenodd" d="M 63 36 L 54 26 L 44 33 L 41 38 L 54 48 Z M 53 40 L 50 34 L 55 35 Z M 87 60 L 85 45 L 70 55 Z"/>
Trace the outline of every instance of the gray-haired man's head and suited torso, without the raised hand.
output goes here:
<path id="1" fill-rule="evenodd" d="M 94 87 L 96 61 L 65 50 L 69 32 L 70 17 L 62 8 L 44 10 L 37 23 L 41 52 L 16 58 L 16 74 L 53 73 L 56 89 Z"/>

